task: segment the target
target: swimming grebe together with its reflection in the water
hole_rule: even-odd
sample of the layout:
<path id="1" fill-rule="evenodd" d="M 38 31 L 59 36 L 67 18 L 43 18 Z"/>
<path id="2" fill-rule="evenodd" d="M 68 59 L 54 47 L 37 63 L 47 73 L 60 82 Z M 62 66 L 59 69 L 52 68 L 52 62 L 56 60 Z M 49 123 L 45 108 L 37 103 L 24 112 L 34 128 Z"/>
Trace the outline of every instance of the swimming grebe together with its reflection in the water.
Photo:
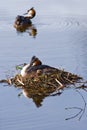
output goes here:
<path id="1" fill-rule="evenodd" d="M 27 32 L 30 36 L 35 37 L 37 35 L 37 29 L 32 24 L 31 19 L 36 15 L 36 11 L 32 7 L 24 15 L 18 15 L 14 22 L 14 28 L 18 33 Z"/>

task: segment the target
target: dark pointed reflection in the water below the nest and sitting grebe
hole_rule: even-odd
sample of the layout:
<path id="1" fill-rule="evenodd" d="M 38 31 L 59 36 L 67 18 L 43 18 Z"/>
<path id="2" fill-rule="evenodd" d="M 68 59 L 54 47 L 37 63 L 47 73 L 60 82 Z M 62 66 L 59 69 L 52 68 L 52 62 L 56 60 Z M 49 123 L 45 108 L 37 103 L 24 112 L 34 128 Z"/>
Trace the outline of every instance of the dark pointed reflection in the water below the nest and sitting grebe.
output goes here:
<path id="1" fill-rule="evenodd" d="M 48 96 L 56 96 L 62 94 L 62 91 L 56 91 L 53 93 L 54 88 L 41 86 L 36 89 L 35 87 L 24 87 L 22 88 L 22 92 L 18 94 L 20 97 L 21 95 L 24 95 L 24 97 L 32 99 L 35 103 L 36 107 L 41 107 L 43 100 Z"/>

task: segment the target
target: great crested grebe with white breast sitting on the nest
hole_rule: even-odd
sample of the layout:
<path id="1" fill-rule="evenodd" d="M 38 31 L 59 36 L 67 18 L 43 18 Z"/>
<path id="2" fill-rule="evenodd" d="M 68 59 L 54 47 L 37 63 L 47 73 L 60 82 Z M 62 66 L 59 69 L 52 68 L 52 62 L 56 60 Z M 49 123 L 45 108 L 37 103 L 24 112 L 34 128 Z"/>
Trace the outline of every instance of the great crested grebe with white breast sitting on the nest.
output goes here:
<path id="1" fill-rule="evenodd" d="M 36 57 L 33 56 L 31 58 L 30 64 L 25 65 L 21 70 L 21 76 L 22 77 L 34 77 L 37 74 L 47 74 L 52 73 L 54 71 L 58 71 L 58 69 L 43 65 L 42 62 Z"/>

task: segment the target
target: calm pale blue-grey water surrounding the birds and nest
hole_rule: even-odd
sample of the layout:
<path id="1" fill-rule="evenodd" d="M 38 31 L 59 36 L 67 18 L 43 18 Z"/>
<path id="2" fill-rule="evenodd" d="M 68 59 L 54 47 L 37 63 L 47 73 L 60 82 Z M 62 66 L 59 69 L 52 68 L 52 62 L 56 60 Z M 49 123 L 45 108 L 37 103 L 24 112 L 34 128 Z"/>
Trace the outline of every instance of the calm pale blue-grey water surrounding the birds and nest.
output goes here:
<path id="1" fill-rule="evenodd" d="M 15 65 L 28 62 L 33 55 L 44 64 L 64 68 L 87 79 L 86 1 L 83 1 L 84 6 L 82 2 L 75 6 L 75 10 L 74 7 L 70 10 L 72 1 L 71 4 L 67 1 L 66 4 L 57 0 L 0 1 L 0 79 L 13 74 Z M 32 20 L 37 28 L 36 38 L 27 32 L 18 34 L 13 28 L 15 17 L 32 6 L 37 11 Z M 65 120 L 76 113 L 75 110 L 66 111 L 66 107 L 84 106 L 75 90 L 65 90 L 60 96 L 46 98 L 40 108 L 31 99 L 18 98 L 19 92 L 14 87 L 0 84 L 0 130 L 87 129 L 87 111 L 80 121 L 78 118 Z M 87 93 L 82 91 L 82 94 L 87 99 Z"/>

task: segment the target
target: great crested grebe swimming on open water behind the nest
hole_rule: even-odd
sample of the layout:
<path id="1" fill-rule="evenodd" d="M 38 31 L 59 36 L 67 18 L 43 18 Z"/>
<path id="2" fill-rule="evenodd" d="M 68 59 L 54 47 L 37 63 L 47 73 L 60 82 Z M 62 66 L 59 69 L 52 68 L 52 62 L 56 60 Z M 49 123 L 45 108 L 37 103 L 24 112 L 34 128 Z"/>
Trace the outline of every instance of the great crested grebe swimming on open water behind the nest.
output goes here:
<path id="1" fill-rule="evenodd" d="M 35 15 L 36 15 L 36 11 L 32 7 L 24 15 L 18 15 L 16 17 L 16 20 L 14 22 L 14 27 L 18 28 L 18 27 L 23 27 L 23 26 L 27 26 L 29 24 L 32 24 L 31 19 L 34 18 Z"/>

